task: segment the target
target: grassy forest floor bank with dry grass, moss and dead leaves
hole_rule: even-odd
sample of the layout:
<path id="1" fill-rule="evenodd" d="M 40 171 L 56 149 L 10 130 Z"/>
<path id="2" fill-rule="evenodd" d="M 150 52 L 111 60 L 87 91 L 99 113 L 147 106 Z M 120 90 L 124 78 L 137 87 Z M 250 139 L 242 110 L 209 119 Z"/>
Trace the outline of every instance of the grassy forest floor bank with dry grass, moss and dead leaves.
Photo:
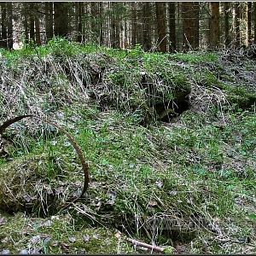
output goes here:
<path id="1" fill-rule="evenodd" d="M 72 143 L 43 120 L 10 125 L 0 253 L 157 253 L 127 238 L 161 253 L 256 253 L 252 51 L 164 55 L 56 39 L 0 55 L 1 124 L 47 117 L 72 135 L 90 174 L 64 209 L 84 183 Z M 189 104 L 164 122 L 145 75 L 163 98 L 189 90 Z"/>

